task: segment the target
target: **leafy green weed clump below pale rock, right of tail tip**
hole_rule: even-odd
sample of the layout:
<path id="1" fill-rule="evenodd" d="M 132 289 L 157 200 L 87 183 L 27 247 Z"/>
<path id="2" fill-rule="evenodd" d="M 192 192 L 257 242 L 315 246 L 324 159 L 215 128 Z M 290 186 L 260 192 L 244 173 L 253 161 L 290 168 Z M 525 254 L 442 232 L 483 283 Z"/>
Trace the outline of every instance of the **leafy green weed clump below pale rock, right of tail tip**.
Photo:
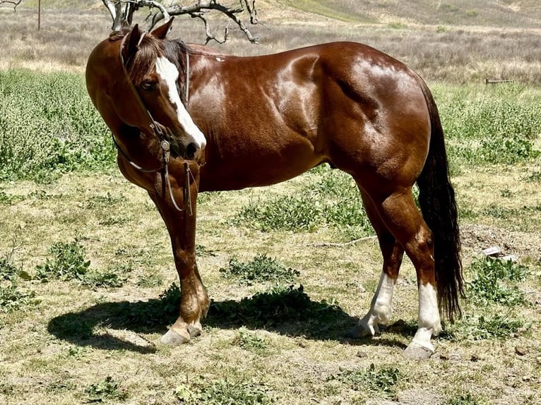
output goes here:
<path id="1" fill-rule="evenodd" d="M 525 303 L 524 294 L 516 285 L 503 282 L 520 282 L 529 270 L 511 260 L 479 258 L 470 265 L 474 279 L 468 282 L 467 291 L 470 299 L 480 305 L 499 303 L 504 306 L 516 306 Z"/>

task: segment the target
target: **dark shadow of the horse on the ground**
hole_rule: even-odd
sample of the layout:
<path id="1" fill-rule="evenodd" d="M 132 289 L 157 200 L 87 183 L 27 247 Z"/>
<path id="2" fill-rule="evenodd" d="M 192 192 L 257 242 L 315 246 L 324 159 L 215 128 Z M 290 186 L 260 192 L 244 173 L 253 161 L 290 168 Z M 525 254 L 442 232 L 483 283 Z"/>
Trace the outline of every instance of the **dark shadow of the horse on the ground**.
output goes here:
<path id="1" fill-rule="evenodd" d="M 102 330 L 163 334 L 177 319 L 179 303 L 180 291 L 174 285 L 157 299 L 98 303 L 76 313 L 59 315 L 49 321 L 48 330 L 59 339 L 77 346 L 152 353 L 156 351 L 154 344 L 137 344 L 133 339 L 103 333 Z M 222 329 L 264 329 L 306 339 L 350 341 L 346 333 L 356 322 L 357 318 L 339 306 L 312 301 L 302 286 L 290 286 L 240 301 L 212 301 L 205 325 Z M 399 343 L 393 340 L 389 344 Z"/>

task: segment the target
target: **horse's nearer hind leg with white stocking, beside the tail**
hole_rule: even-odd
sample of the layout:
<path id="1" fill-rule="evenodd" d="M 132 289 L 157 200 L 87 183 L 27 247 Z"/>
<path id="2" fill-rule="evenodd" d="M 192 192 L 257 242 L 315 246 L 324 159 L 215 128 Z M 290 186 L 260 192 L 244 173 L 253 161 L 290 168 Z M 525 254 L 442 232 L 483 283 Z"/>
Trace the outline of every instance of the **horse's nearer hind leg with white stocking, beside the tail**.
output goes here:
<path id="1" fill-rule="evenodd" d="M 395 236 L 396 241 L 404 247 L 417 272 L 419 327 L 405 350 L 405 355 L 412 358 L 427 358 L 434 353 L 431 337 L 441 332 L 432 232 L 413 201 L 411 188 L 395 191 L 380 200 L 372 198 L 372 201 L 381 220 Z"/>

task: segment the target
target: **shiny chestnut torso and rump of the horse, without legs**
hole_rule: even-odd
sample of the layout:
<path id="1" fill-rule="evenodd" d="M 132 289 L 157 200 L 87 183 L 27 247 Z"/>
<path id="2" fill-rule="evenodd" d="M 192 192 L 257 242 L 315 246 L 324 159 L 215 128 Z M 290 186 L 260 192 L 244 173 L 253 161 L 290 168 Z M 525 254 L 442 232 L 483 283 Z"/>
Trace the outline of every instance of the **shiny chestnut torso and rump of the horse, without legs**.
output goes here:
<path id="1" fill-rule="evenodd" d="M 264 56 L 209 55 L 201 64 L 190 110 L 210 137 L 204 188 L 230 183 L 227 168 L 236 169 L 225 162 L 254 156 L 258 164 L 231 187 L 282 181 L 321 162 L 359 182 L 396 179 L 406 167 L 412 183 L 422 169 L 429 115 L 419 79 L 383 52 L 330 42 Z"/>

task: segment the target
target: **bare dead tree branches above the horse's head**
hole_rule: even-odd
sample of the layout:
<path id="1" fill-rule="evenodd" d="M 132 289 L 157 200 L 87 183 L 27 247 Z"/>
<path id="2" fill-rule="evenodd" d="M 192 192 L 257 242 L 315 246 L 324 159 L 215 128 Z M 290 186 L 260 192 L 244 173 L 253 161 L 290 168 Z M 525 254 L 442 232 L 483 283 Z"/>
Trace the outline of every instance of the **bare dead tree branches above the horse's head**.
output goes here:
<path id="1" fill-rule="evenodd" d="M 248 13 L 250 23 L 258 24 L 256 0 L 238 0 L 236 7 L 227 6 L 219 0 L 192 1 L 194 1 L 194 4 L 184 6 L 181 4 L 182 0 L 172 0 L 169 6 L 165 6 L 163 2 L 156 0 L 102 0 L 111 14 L 113 30 L 121 30 L 121 28 L 126 26 L 129 27 L 133 20 L 133 13 L 141 8 L 148 8 L 148 15 L 145 18 L 148 24 L 148 30 L 151 30 L 161 20 L 167 21 L 172 16 L 188 15 L 192 18 L 198 18 L 203 22 L 206 32 L 206 43 L 210 41 L 223 43 L 227 40 L 230 25 L 226 25 L 222 37 L 217 37 L 210 29 L 207 18 L 208 12 L 217 11 L 230 18 L 230 23 L 233 22 L 237 25 L 250 42 L 254 44 L 258 43 L 258 37 L 251 34 L 248 28 L 246 28 L 244 21 L 239 17 L 242 13 Z"/>

